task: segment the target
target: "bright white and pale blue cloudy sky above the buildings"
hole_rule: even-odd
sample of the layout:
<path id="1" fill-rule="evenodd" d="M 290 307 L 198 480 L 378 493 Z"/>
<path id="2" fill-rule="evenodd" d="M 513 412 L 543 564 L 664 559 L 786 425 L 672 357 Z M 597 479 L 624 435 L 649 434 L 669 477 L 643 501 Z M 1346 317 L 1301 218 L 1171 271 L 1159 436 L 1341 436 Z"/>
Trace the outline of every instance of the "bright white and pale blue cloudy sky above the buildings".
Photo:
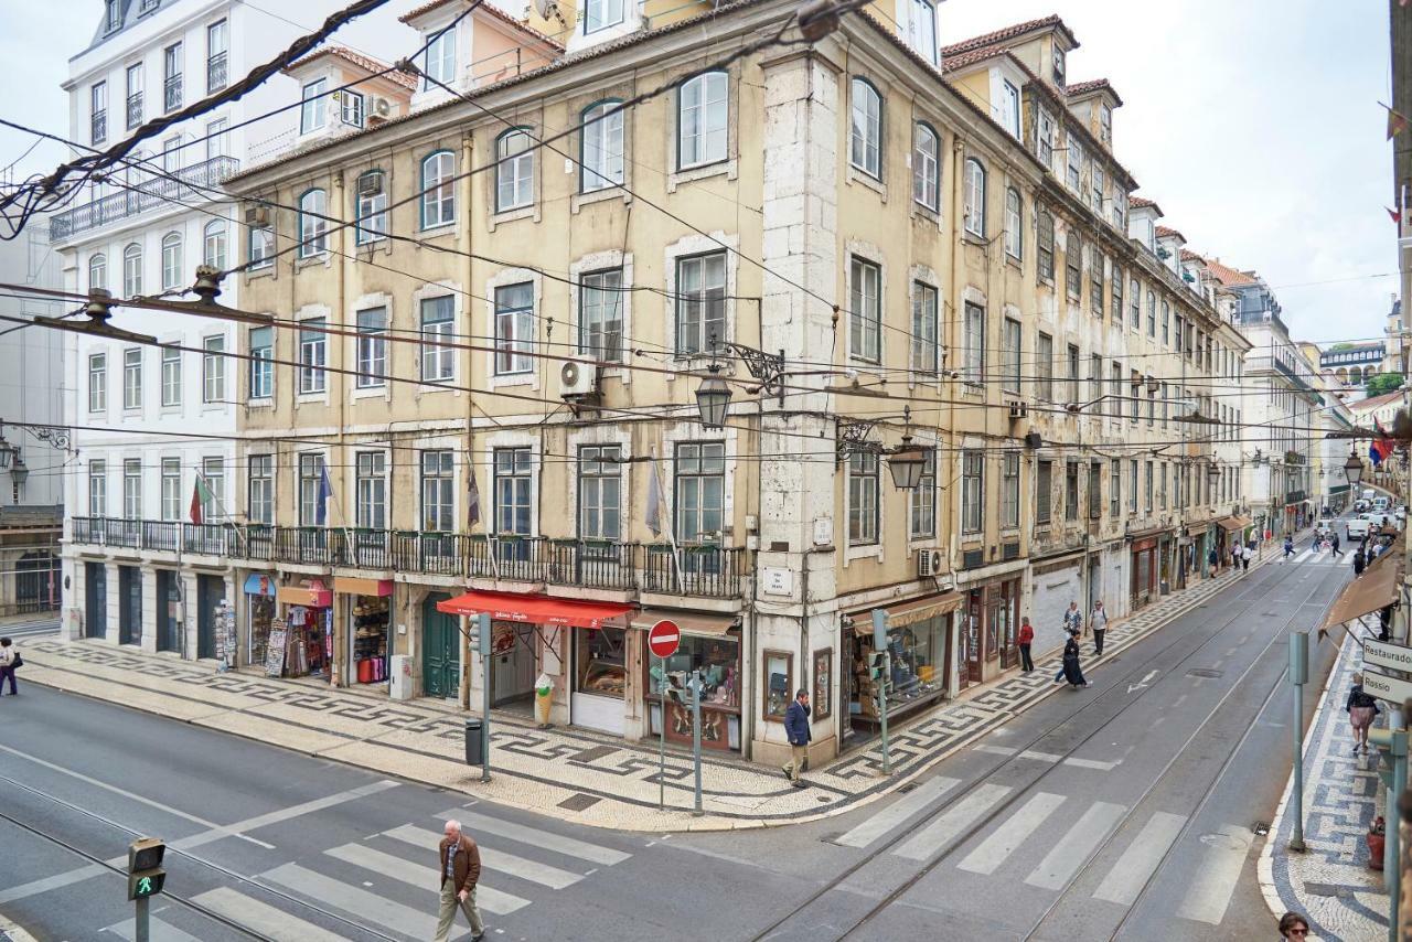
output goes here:
<path id="1" fill-rule="evenodd" d="M 254 10 L 265 6 L 294 8 Z M 59 83 L 100 11 L 99 0 L 0 0 L 0 117 L 66 131 Z M 1387 0 L 946 0 L 942 38 L 1051 13 L 1082 44 L 1070 81 L 1104 76 L 1123 96 L 1118 157 L 1192 249 L 1265 275 L 1300 338 L 1381 336 L 1396 290 L 1368 277 L 1396 268 L 1378 106 L 1389 100 Z M 363 45 L 360 32 L 339 38 Z M 0 129 L 0 167 L 31 143 Z M 62 157 L 41 147 L 11 172 Z"/>

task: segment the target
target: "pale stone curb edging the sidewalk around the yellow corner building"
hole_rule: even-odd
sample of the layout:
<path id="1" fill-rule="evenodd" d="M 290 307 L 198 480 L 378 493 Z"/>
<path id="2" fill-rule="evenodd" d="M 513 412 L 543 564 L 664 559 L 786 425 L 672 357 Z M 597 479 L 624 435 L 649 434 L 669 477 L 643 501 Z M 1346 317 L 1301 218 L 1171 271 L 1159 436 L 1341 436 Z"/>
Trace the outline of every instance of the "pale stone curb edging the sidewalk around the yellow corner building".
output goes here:
<path id="1" fill-rule="evenodd" d="M 1233 585 L 1236 582 L 1243 582 L 1245 578 L 1250 576 L 1250 573 L 1252 571 L 1258 571 L 1258 569 L 1261 569 L 1261 568 L 1264 568 L 1267 565 L 1271 565 L 1272 562 L 1275 562 L 1275 559 L 1276 559 L 1276 556 L 1272 554 L 1272 555 L 1267 556 L 1265 559 L 1261 559 L 1260 562 L 1257 562 L 1254 566 L 1251 566 L 1250 571 L 1241 571 L 1238 573 L 1226 575 L 1220 580 L 1219 588 L 1214 592 L 1209 593 L 1204 599 L 1202 599 L 1202 602 L 1204 602 L 1209 597 L 1214 597 L 1214 595 L 1217 595 L 1219 592 L 1223 592 L 1224 586 Z M 1209 582 L 1209 580 L 1204 580 L 1204 582 Z M 1190 588 L 1187 590 L 1190 590 Z M 1183 590 L 1183 592 L 1186 592 L 1186 590 Z M 1141 634 L 1131 636 L 1131 637 L 1123 640 L 1118 644 L 1110 644 L 1110 645 L 1107 645 L 1107 650 L 1104 651 L 1104 655 L 1101 658 L 1090 661 L 1087 664 L 1087 667 L 1091 669 L 1091 668 L 1108 664 L 1110 661 L 1113 661 L 1114 658 L 1117 658 L 1118 655 L 1121 655 L 1123 652 L 1125 652 L 1128 648 L 1134 647 L 1139 641 L 1144 641 L 1144 640 L 1152 637 L 1154 634 L 1156 634 L 1162 628 L 1168 627 L 1176 619 L 1179 619 L 1179 617 L 1182 617 L 1185 614 L 1189 614 L 1189 613 L 1190 613 L 1190 609 L 1173 609 L 1173 612 L 1169 616 L 1166 616 L 1166 617 L 1155 621 L 1151 627 L 1148 627 Z M 1132 617 L 1135 617 L 1135 616 L 1131 616 L 1131 614 L 1128 616 L 1128 619 L 1132 619 Z M 1127 619 L 1124 619 L 1124 620 L 1127 620 Z M 1114 626 L 1114 627 L 1117 627 L 1117 626 Z M 37 661 L 37 664 L 40 664 L 40 662 Z M 42 664 L 41 664 L 41 667 L 42 667 Z M 80 692 L 80 691 L 71 691 L 71 689 L 68 689 L 66 686 L 64 686 L 61 684 L 45 682 L 42 679 L 34 679 L 34 681 L 28 681 L 28 682 L 30 684 L 35 684 L 38 686 L 48 688 L 48 689 L 54 689 L 54 691 L 59 691 L 59 692 L 64 692 L 64 693 L 69 693 L 69 695 L 73 695 L 73 696 L 83 696 L 86 699 L 92 699 L 92 700 L 96 700 L 96 702 L 116 705 L 116 706 L 123 706 L 126 709 L 134 709 L 137 712 L 147 713 L 150 716 L 160 716 L 162 719 L 168 719 L 168 720 L 172 720 L 172 722 L 186 723 L 188 726 L 198 726 L 193 720 L 189 720 L 189 719 L 181 719 L 181 717 L 176 717 L 176 716 L 167 716 L 167 715 L 160 713 L 157 710 L 144 709 L 141 706 L 131 706 L 131 705 L 123 703 L 121 700 L 100 699 L 100 698 L 92 696 L 92 695 Z M 976 695 L 984 693 L 986 689 L 991 689 L 991 688 L 980 688 L 980 689 L 976 691 Z M 816 821 L 825 821 L 827 818 L 836 818 L 839 815 L 846 815 L 846 813 L 858 811 L 860 808 L 863 808 L 863 806 L 866 806 L 868 804 L 873 804 L 873 802 L 878 801 L 880 798 L 885 798 L 885 797 L 894 794 L 895 791 L 901 789 L 902 787 L 905 787 L 905 785 L 916 781 L 918 778 L 921 778 L 923 774 L 926 774 L 928 771 L 931 771 L 932 768 L 935 768 L 942 761 L 950 758 L 952 756 L 956 756 L 963 749 L 970 747 L 977 740 L 980 740 L 984 736 L 990 734 L 991 732 L 994 732 L 1000 726 L 1004 726 L 1005 723 L 1011 722 L 1017 716 L 1028 712 L 1029 709 L 1032 709 L 1034 706 L 1036 706 L 1041 702 L 1046 700 L 1048 698 L 1056 695 L 1062 689 L 1063 689 L 1062 686 L 1058 686 L 1058 685 L 1053 685 L 1053 684 L 1043 685 L 1029 699 L 1019 700 L 1019 702 L 1014 703 L 1011 709 L 1008 709 L 1008 710 L 1005 710 L 1003 713 L 997 713 L 994 717 L 991 717 L 990 722 L 984 722 L 984 723 L 976 726 L 963 739 L 952 743 L 950 747 L 947 747 L 946 750 L 939 751 L 939 753 L 936 753 L 933 756 L 929 756 L 925 760 L 919 761 L 912 768 L 908 768 L 904 775 L 899 775 L 899 777 L 894 778 L 892 781 L 888 781 L 885 787 L 878 788 L 877 791 L 860 792 L 860 794 L 857 794 L 856 799 L 853 799 L 853 801 L 840 802 L 840 804 L 837 804 L 834 806 L 830 806 L 830 808 L 826 808 L 826 809 L 822 809 L 822 811 L 818 811 L 818 812 L 803 812 L 803 813 L 799 813 L 799 815 L 795 815 L 795 816 L 778 816 L 778 818 L 748 818 L 748 816 L 741 816 L 741 818 L 722 818 L 722 816 L 714 816 L 714 815 L 709 815 L 707 818 L 696 818 L 696 816 L 692 815 L 692 812 L 690 812 L 689 808 L 668 808 L 666 812 L 657 812 L 657 809 L 652 808 L 651 811 L 655 812 L 655 813 L 666 813 L 666 815 L 679 816 L 681 821 L 675 822 L 674 826 L 671 828 L 672 832 L 678 832 L 678 833 L 689 833 L 689 832 L 726 832 L 726 830 L 755 830 L 755 829 L 767 829 L 767 828 L 785 828 L 785 826 L 789 826 L 789 825 L 809 823 L 809 822 L 816 822 Z M 949 700 L 947 703 L 959 703 L 959 702 L 964 702 L 964 699 Z M 916 720 L 922 720 L 922 719 L 923 719 L 923 716 L 918 716 L 916 717 Z M 363 771 L 370 771 L 370 773 L 376 773 L 376 774 L 380 774 L 380 775 L 385 775 L 388 778 L 398 778 L 401 781 L 415 782 L 415 784 L 419 784 L 419 785 L 429 785 L 429 787 L 433 787 L 433 788 L 443 788 L 443 789 L 448 789 L 448 791 L 452 791 L 452 792 L 456 792 L 456 794 L 470 795 L 470 797 L 477 798 L 480 801 L 500 802 L 500 804 L 504 804 L 507 806 L 515 808 L 518 811 L 527 811 L 527 812 L 531 812 L 531 813 L 548 815 L 548 816 L 554 816 L 555 815 L 555 811 L 552 808 L 545 808 L 545 806 L 539 806 L 539 805 L 520 804 L 520 802 L 515 802 L 513 799 L 507 799 L 507 797 L 503 797 L 503 795 L 501 797 L 491 797 L 491 795 L 479 794 L 479 792 L 473 791 L 472 788 L 466 788 L 466 787 L 459 785 L 459 784 L 448 784 L 448 782 L 441 781 L 441 780 L 435 780 L 435 778 L 429 778 L 429 777 L 419 777 L 419 775 L 412 774 L 412 773 L 388 773 L 385 770 L 378 770 L 378 768 L 374 768 L 374 767 L 361 765 L 361 764 L 356 764 L 356 763 L 352 763 L 352 761 L 345 761 L 342 758 L 335 758 L 335 757 L 330 757 L 330 756 L 325 756 L 319 750 L 308 750 L 308 749 L 299 749 L 299 747 L 295 747 L 295 746 L 274 744 L 274 743 L 268 743 L 267 740 L 264 740 L 264 739 L 261 739 L 261 737 L 258 737 L 256 734 L 250 734 L 250 733 L 243 733 L 243 732 L 236 732 L 236 730 L 217 730 L 215 727 L 205 727 L 205 726 L 202 726 L 201 729 L 209 729 L 212 732 L 223 732 L 226 734 L 239 736 L 240 739 L 246 739 L 246 740 L 250 740 L 250 741 L 257 741 L 257 743 L 263 743 L 263 744 L 267 744 L 267 746 L 275 746 L 277 749 L 284 749 L 287 751 L 291 751 L 291 753 L 295 753 L 295 754 L 299 754 L 299 756 L 308 756 L 309 758 L 318 758 L 318 760 L 322 760 L 322 761 L 335 761 L 335 763 L 339 763 L 340 765 L 347 765 L 349 768 L 359 768 L 359 770 L 363 770 Z M 634 809 L 637 806 L 635 805 L 627 805 L 626 808 L 628 809 L 628 812 L 631 812 L 631 809 Z M 618 832 L 626 832 L 626 833 L 657 833 L 657 832 L 664 830 L 664 828 L 661 826 L 661 823 L 662 823 L 661 819 L 658 822 L 654 822 L 652 826 L 624 826 L 624 825 L 616 825 L 616 823 L 604 823 L 604 822 L 596 822 L 596 821 L 580 821 L 580 819 L 576 819 L 572 823 L 587 826 L 587 828 L 599 828 L 599 829 L 603 829 L 603 830 L 618 830 Z"/>

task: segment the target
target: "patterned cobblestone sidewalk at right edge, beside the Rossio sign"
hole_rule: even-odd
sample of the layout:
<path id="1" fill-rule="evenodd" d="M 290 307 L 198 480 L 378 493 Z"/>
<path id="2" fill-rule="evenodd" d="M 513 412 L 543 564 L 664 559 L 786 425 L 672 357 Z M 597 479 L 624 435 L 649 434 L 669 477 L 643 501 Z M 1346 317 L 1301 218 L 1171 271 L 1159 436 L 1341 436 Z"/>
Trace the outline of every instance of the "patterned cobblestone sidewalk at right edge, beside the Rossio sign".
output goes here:
<path id="1" fill-rule="evenodd" d="M 1309 918 L 1319 939 L 1381 939 L 1388 932 L 1382 873 L 1368 869 L 1363 839 L 1378 816 L 1377 750 L 1353 754 L 1353 730 L 1343 705 L 1358 669 L 1358 643 L 1344 636 L 1339 661 L 1305 739 L 1305 853 L 1289 852 L 1295 821 L 1289 808 L 1293 774 L 1275 812 L 1260 857 L 1265 902 L 1279 917 Z M 1385 708 L 1378 725 L 1385 725 Z"/>

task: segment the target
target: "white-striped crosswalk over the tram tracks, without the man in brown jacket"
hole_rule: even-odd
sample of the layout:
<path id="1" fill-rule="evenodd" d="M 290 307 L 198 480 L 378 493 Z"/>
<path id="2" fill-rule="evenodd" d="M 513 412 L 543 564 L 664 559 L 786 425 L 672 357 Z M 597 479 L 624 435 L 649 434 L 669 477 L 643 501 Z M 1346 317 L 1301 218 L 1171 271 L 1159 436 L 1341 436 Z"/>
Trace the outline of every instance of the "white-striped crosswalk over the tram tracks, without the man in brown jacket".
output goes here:
<path id="1" fill-rule="evenodd" d="M 949 778 L 929 780 L 833 843 L 867 847 L 888 835 L 897 836 L 931 799 L 950 792 L 957 784 Z M 928 788 L 925 797 L 914 798 L 923 788 Z M 1001 802 L 1011 798 L 1012 791 L 990 782 L 976 785 L 929 821 L 921 825 L 912 822 L 914 830 L 888 853 L 918 863 L 942 859 L 939 873 L 945 874 L 950 867 L 994 877 L 1005 886 L 1019 881 L 1052 893 L 1077 886 L 1094 887 L 1093 900 L 1131 907 L 1189 823 L 1186 815 L 1156 811 L 1120 832 L 1128 816 L 1127 805 L 1045 791 L 1014 801 L 987 822 L 987 816 L 1001 809 Z M 967 836 L 977 826 L 981 829 L 974 837 Z M 1113 852 L 1118 856 L 1094 857 L 1115 833 Z M 1189 836 L 1187 840 L 1199 842 L 1200 864 L 1196 878 L 1178 897 L 1175 915 L 1220 925 L 1252 839 L 1248 828 L 1236 825 L 1214 835 Z M 1076 884 L 1079 871 L 1093 860 L 1104 861 L 1093 874 L 1099 878 Z"/>

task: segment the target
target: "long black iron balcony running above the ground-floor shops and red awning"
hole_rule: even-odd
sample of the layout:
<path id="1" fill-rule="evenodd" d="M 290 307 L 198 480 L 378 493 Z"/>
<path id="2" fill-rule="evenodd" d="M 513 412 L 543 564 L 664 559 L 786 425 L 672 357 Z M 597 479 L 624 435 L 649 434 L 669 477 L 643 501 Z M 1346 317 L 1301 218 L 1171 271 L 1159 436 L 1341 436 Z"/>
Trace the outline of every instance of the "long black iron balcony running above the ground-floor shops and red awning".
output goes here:
<path id="1" fill-rule="evenodd" d="M 737 547 L 73 517 L 73 544 L 710 599 L 741 593 Z"/>

